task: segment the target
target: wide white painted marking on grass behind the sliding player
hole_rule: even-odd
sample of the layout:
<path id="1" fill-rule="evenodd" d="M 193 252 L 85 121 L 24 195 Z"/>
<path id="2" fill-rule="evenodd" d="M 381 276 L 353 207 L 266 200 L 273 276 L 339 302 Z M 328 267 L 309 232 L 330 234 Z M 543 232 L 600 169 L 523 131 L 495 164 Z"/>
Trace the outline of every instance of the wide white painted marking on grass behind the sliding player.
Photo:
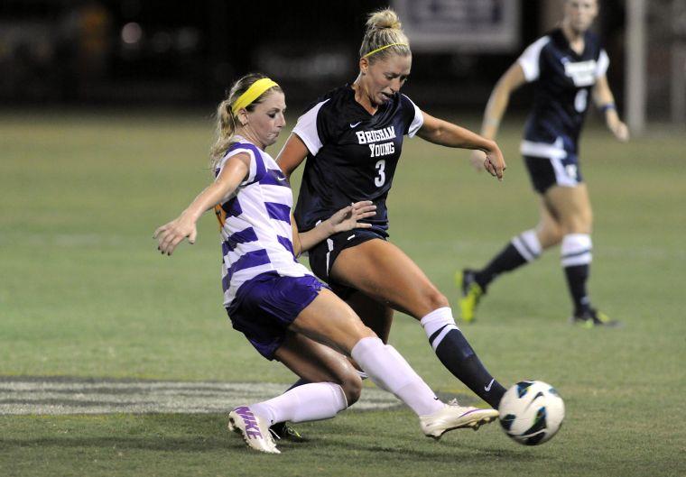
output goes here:
<path id="1" fill-rule="evenodd" d="M 274 382 L 96 381 L 79 378 L 0 376 L 0 415 L 221 413 L 281 394 Z M 364 388 L 351 408 L 394 408 L 392 394 Z"/>

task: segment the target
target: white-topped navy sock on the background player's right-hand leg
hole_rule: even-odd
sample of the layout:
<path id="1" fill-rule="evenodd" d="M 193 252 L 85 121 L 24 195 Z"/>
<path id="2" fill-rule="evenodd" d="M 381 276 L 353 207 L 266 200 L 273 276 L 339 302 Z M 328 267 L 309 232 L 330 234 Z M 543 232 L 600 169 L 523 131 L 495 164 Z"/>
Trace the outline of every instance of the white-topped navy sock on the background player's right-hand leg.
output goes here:
<path id="1" fill-rule="evenodd" d="M 592 249 L 589 234 L 568 234 L 562 238 L 561 263 L 575 316 L 588 312 L 590 308 L 586 283 L 590 275 L 590 262 L 593 261 Z"/>

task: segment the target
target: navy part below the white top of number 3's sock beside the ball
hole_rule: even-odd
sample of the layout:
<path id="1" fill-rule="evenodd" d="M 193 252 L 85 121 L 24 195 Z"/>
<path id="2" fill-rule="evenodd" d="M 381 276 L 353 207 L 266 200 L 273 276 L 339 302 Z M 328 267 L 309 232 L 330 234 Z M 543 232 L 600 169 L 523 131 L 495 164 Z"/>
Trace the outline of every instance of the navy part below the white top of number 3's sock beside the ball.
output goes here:
<path id="1" fill-rule="evenodd" d="M 432 343 L 440 334 L 440 330 L 431 336 Z M 436 355 L 448 371 L 464 382 L 477 396 L 484 399 L 492 408 L 497 409 L 500 399 L 505 394 L 505 388 L 491 376 L 477 353 L 468 344 L 465 336 L 459 329 L 452 329 L 443 336 L 438 346 L 435 347 Z"/>

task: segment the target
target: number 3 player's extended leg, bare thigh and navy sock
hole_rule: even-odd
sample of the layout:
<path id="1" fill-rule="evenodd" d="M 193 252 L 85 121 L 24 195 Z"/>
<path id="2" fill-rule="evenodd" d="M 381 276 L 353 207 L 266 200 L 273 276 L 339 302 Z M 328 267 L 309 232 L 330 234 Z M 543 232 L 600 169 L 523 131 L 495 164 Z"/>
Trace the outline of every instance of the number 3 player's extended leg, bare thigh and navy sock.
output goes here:
<path id="1" fill-rule="evenodd" d="M 440 362 L 497 408 L 505 389 L 455 325 L 448 300 L 402 250 L 379 239 L 360 243 L 340 252 L 331 277 L 420 320 Z"/>

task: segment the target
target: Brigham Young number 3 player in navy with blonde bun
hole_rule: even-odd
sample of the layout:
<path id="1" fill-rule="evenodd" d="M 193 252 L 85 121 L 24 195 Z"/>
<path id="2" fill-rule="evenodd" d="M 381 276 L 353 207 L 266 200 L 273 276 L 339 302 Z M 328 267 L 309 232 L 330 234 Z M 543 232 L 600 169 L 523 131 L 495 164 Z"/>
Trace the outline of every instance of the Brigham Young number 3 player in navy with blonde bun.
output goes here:
<path id="1" fill-rule="evenodd" d="M 384 340 L 394 309 L 420 320 L 446 368 L 497 408 L 505 390 L 455 325 L 448 299 L 386 241 L 385 199 L 404 136 L 483 151 L 485 168 L 498 179 L 505 170 L 502 153 L 496 142 L 426 114 L 401 94 L 412 52 L 393 10 L 369 15 L 359 56 L 357 79 L 311 105 L 277 159 L 286 175 L 306 161 L 295 209 L 303 231 L 352 202 L 372 200 L 376 206 L 376 215 L 364 219 L 370 228 L 333 234 L 311 249 L 312 271 Z"/>

